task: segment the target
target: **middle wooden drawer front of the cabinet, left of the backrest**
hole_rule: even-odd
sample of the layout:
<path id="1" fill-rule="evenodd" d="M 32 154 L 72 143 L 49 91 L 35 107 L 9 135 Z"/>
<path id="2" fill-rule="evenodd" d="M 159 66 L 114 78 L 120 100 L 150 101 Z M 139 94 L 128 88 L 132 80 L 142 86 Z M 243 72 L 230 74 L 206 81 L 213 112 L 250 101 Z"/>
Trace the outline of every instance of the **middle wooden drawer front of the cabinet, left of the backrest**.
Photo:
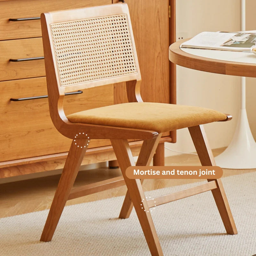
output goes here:
<path id="1" fill-rule="evenodd" d="M 42 37 L 0 41 L 0 81 L 45 76 L 44 60 L 10 61 L 43 56 Z"/>

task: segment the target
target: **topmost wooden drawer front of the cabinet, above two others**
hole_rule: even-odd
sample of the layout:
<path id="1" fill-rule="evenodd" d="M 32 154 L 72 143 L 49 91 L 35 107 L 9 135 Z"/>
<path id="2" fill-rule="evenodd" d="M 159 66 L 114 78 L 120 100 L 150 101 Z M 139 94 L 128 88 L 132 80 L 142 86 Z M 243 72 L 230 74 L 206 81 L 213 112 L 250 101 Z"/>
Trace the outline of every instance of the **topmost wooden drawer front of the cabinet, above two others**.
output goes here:
<path id="1" fill-rule="evenodd" d="M 0 1 L 0 40 L 38 37 L 40 20 L 10 21 L 9 19 L 40 17 L 42 12 L 112 4 L 112 0 L 12 0 Z"/>

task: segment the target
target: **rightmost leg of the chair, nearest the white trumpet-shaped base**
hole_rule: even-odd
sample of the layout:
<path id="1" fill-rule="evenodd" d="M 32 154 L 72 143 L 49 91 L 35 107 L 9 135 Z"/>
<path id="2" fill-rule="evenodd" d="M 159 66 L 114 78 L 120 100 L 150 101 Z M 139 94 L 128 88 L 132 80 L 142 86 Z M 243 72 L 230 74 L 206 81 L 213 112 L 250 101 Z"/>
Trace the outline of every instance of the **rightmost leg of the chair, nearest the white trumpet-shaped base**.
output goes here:
<path id="1" fill-rule="evenodd" d="M 189 127 L 188 130 L 196 147 L 196 152 L 199 156 L 201 164 L 203 166 L 216 166 L 214 157 L 212 155 L 212 150 L 209 146 L 203 125 Z M 212 195 L 220 212 L 220 217 L 223 221 L 227 233 L 230 235 L 235 235 L 237 234 L 236 224 L 234 222 L 228 204 L 228 199 L 225 190 L 222 186 L 222 182 L 220 179 L 216 179 L 215 182 L 217 188 L 212 190 Z"/>

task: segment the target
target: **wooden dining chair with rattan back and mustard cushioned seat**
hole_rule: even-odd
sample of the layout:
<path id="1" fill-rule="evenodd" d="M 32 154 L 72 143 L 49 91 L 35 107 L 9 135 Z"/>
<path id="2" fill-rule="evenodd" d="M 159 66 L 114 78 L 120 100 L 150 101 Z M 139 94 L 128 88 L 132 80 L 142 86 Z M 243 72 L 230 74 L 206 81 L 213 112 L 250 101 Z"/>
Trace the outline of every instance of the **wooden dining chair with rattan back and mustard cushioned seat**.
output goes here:
<path id="1" fill-rule="evenodd" d="M 51 241 L 67 200 L 126 184 L 128 192 L 119 218 L 128 218 L 134 206 L 151 254 L 163 255 L 148 210 L 152 202 L 142 200 L 145 196 L 140 180 L 125 176 L 126 168 L 135 165 L 127 140 L 144 140 L 136 165 L 145 166 L 150 164 L 163 132 L 188 127 L 202 165 L 211 166 L 215 162 L 202 124 L 231 117 L 206 108 L 142 101 L 140 69 L 126 4 L 43 13 L 41 23 L 52 122 L 61 134 L 73 140 L 41 241 Z M 120 82 L 126 82 L 129 103 L 65 115 L 64 93 Z M 91 139 L 111 140 L 123 176 L 72 190 Z M 220 179 L 157 198 L 156 205 L 209 190 L 227 233 L 236 234 Z"/>

